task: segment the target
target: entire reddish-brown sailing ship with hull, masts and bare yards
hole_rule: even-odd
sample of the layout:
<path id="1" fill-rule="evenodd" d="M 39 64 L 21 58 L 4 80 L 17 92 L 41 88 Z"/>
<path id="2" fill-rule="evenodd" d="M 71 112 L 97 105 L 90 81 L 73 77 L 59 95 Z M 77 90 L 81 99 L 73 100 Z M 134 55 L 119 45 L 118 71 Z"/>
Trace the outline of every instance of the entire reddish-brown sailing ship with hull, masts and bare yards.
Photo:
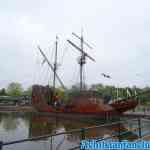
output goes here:
<path id="1" fill-rule="evenodd" d="M 76 50 L 80 52 L 80 57 L 78 59 L 78 64 L 80 66 L 80 92 L 78 95 L 71 97 L 67 104 L 62 101 L 57 104 L 56 101 L 56 79 L 59 81 L 61 86 L 66 89 L 61 78 L 57 74 L 57 49 L 58 49 L 58 37 L 56 37 L 56 49 L 55 49 L 55 61 L 51 64 L 43 50 L 38 46 L 41 55 L 44 58 L 43 62 L 47 62 L 48 66 L 54 73 L 53 87 L 33 85 L 32 87 L 32 105 L 37 109 L 38 112 L 47 113 L 48 115 L 58 116 L 58 117 L 93 117 L 93 118 L 108 118 L 112 116 L 120 116 L 128 110 L 134 109 L 138 101 L 135 97 L 128 97 L 121 100 L 115 100 L 111 103 L 106 103 L 103 98 L 97 96 L 97 92 L 93 90 L 84 90 L 83 83 L 83 67 L 86 64 L 86 59 L 95 61 L 89 54 L 84 51 L 83 45 L 85 44 L 89 48 L 91 46 L 85 42 L 83 35 L 81 36 L 72 33 L 77 37 L 81 45 L 80 47 L 74 44 L 71 40 L 67 42 L 73 46 Z"/>

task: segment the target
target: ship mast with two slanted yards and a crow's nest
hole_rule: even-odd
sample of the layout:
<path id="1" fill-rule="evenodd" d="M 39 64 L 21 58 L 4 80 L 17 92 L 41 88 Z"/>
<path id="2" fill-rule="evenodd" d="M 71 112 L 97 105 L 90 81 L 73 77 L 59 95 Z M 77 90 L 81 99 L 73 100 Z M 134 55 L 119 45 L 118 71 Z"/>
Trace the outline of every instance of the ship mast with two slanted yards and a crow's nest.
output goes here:
<path id="1" fill-rule="evenodd" d="M 90 55 L 88 55 L 85 51 L 84 51 L 84 44 L 86 46 L 88 46 L 90 49 L 92 49 L 92 47 L 84 41 L 83 39 L 83 34 L 81 33 L 81 37 L 78 36 L 75 33 L 72 33 L 72 35 L 74 35 L 76 38 L 78 38 L 80 40 L 80 47 L 78 47 L 76 44 L 74 44 L 72 41 L 67 40 L 69 42 L 69 44 L 71 44 L 74 48 L 76 48 L 78 51 L 80 51 L 81 56 L 79 58 L 78 64 L 80 65 L 80 91 L 83 90 L 83 80 L 84 80 L 84 74 L 83 74 L 83 67 L 86 64 L 86 57 L 88 57 L 89 59 L 91 59 L 92 61 L 95 61 L 94 58 L 92 58 Z"/>

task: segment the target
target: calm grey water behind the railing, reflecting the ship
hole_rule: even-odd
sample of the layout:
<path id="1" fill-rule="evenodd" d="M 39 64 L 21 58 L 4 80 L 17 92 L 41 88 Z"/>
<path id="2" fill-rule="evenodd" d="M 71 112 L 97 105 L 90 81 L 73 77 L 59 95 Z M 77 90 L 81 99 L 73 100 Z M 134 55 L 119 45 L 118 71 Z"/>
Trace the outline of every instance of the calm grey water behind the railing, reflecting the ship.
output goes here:
<path id="1" fill-rule="evenodd" d="M 94 120 L 71 120 L 39 116 L 34 114 L 8 113 L 0 114 L 0 140 L 3 142 L 36 137 L 45 134 L 70 131 L 72 129 L 98 125 Z M 150 128 L 149 124 L 147 128 Z M 121 125 L 122 130 L 126 130 Z M 107 137 L 118 130 L 118 126 L 92 129 L 86 132 L 86 137 Z M 131 133 L 131 139 L 137 138 L 137 133 Z M 60 135 L 40 141 L 25 142 L 4 146 L 4 150 L 67 150 L 80 143 L 81 133 Z M 129 139 L 129 138 L 128 138 Z"/>

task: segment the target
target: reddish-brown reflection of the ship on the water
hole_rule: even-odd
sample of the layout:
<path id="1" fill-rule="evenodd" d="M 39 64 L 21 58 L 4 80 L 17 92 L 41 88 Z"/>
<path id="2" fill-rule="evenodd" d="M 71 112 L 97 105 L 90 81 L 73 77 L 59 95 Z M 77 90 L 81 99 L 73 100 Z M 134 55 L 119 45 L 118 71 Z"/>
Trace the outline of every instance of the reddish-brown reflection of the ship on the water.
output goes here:
<path id="1" fill-rule="evenodd" d="M 97 125 L 96 123 L 85 123 L 84 121 L 78 120 L 66 120 L 61 118 L 50 118 L 43 116 L 32 116 L 30 122 L 30 137 L 50 134 L 50 133 L 58 133 L 62 131 L 70 131 L 72 129 L 83 128 Z M 126 132 L 127 128 L 123 124 L 116 124 L 109 127 L 99 127 L 90 129 L 85 132 L 86 138 L 99 137 L 104 138 L 106 136 L 111 136 L 114 133 L 119 132 L 119 128 L 121 132 Z M 114 137 L 118 138 L 118 137 Z M 132 132 L 126 134 L 126 136 L 121 137 L 134 140 L 137 139 L 138 136 Z M 81 133 L 72 133 L 67 135 L 67 140 L 70 142 L 79 142 L 81 139 Z"/>

